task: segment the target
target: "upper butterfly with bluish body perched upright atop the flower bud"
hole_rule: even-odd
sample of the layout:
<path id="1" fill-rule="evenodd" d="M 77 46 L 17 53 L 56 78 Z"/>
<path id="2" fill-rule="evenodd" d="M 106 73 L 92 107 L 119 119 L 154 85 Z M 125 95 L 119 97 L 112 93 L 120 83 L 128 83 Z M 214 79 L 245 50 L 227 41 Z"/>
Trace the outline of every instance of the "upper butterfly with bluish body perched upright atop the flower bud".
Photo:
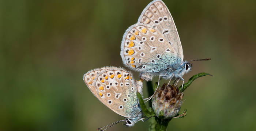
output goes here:
<path id="1" fill-rule="evenodd" d="M 127 67 L 141 72 L 141 79 L 148 81 L 159 76 L 158 84 L 160 77 L 174 77 L 181 79 L 183 86 L 182 76 L 192 69 L 190 61 L 184 61 L 177 28 L 162 0 L 149 3 L 138 22 L 125 31 L 120 55 Z"/>

